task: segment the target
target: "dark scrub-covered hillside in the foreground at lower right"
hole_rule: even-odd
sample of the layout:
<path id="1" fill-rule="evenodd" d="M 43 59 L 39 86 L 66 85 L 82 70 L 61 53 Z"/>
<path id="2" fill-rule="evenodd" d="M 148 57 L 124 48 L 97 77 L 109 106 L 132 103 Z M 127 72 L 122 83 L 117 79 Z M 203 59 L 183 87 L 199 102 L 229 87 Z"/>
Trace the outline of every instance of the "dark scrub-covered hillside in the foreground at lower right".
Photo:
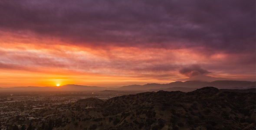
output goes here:
<path id="1" fill-rule="evenodd" d="M 88 98 L 54 120 L 57 130 L 255 130 L 255 98 L 213 87 Z"/>

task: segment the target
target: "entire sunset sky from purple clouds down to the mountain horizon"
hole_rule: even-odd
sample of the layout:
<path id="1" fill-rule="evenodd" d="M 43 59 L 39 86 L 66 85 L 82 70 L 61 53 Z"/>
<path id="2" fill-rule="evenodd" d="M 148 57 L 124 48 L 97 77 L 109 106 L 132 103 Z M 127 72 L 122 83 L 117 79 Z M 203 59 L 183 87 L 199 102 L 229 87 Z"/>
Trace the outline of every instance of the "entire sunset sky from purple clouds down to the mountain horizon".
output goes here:
<path id="1" fill-rule="evenodd" d="M 0 0 L 0 87 L 256 80 L 255 0 Z"/>

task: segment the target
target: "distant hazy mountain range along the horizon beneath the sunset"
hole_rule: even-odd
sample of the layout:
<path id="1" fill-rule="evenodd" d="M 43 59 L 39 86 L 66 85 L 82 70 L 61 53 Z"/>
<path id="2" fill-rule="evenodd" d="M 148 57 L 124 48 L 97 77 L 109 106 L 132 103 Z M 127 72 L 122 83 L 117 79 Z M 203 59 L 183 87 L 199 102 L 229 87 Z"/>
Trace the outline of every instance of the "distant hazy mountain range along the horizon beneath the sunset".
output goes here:
<path id="1" fill-rule="evenodd" d="M 176 81 L 169 84 L 144 84 L 144 85 L 128 85 L 120 88 L 106 88 L 98 86 L 85 86 L 66 84 L 60 87 L 12 87 L 12 88 L 0 88 L 0 91 L 103 91 L 103 90 L 116 90 L 116 91 L 194 91 L 197 88 L 203 88 L 207 86 L 219 88 L 219 89 L 249 89 L 255 88 L 256 82 L 252 81 Z"/>

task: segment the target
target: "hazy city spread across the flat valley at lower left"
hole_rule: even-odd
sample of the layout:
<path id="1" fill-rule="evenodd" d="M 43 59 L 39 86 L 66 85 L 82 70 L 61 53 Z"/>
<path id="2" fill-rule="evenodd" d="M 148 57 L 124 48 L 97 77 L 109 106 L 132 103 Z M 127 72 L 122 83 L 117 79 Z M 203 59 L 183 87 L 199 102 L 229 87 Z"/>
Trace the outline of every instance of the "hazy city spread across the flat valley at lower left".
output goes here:
<path id="1" fill-rule="evenodd" d="M 22 130 L 23 125 L 26 126 L 26 124 L 30 124 L 31 122 L 55 119 L 57 115 L 75 110 L 76 108 L 71 106 L 80 99 L 95 97 L 107 100 L 112 97 L 137 93 L 139 93 L 139 91 L 110 90 L 2 93 L 0 97 L 0 128 L 1 130 L 8 130 L 8 128 L 13 128 L 14 125 L 16 125 L 19 130 Z M 65 125 L 65 123 L 61 125 Z M 35 128 L 35 130 L 39 130 L 39 128 Z"/>

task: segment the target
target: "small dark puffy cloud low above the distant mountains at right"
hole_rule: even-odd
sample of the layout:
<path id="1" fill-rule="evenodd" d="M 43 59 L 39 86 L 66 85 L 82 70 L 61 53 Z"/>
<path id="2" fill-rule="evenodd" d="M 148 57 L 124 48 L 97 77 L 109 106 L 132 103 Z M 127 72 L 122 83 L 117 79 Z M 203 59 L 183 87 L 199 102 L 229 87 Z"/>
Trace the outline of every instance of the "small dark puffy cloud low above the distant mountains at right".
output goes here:
<path id="1" fill-rule="evenodd" d="M 197 75 L 209 74 L 211 72 L 204 70 L 200 65 L 191 65 L 189 67 L 182 68 L 179 71 L 182 75 L 186 75 L 187 77 L 193 77 Z"/>

